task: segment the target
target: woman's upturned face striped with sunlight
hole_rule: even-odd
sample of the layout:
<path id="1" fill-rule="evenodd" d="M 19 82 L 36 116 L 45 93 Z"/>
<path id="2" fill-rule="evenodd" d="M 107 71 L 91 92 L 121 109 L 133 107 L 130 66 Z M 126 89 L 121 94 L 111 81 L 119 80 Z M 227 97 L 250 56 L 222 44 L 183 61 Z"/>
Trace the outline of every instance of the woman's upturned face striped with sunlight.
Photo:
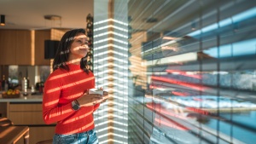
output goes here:
<path id="1" fill-rule="evenodd" d="M 70 47 L 69 61 L 80 61 L 89 50 L 87 37 L 84 33 L 80 33 L 73 39 L 73 43 Z"/>

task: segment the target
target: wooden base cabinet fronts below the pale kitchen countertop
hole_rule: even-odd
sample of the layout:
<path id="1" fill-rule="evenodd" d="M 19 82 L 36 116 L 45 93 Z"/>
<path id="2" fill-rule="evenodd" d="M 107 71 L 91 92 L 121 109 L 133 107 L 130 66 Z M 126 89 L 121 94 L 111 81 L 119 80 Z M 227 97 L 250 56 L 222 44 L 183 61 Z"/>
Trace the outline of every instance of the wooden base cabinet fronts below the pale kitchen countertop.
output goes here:
<path id="1" fill-rule="evenodd" d="M 0 103 L 1 105 L 4 103 Z M 6 109 L 7 118 L 15 125 L 29 126 L 29 142 L 50 140 L 55 134 L 55 124 L 44 124 L 42 103 L 14 103 L 7 102 L 2 105 Z M 4 106 L 6 108 L 4 108 Z M 3 112 L 4 113 L 4 112 Z"/>

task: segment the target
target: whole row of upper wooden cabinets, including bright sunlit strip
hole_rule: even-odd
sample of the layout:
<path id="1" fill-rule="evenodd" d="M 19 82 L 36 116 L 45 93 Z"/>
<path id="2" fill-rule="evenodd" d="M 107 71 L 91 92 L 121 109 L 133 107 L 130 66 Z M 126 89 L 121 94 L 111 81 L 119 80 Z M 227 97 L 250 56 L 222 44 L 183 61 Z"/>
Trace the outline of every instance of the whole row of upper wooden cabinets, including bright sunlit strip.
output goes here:
<path id="1" fill-rule="evenodd" d="M 61 40 L 68 30 L 0 30 L 0 65 L 50 66 L 44 59 L 44 41 Z"/>

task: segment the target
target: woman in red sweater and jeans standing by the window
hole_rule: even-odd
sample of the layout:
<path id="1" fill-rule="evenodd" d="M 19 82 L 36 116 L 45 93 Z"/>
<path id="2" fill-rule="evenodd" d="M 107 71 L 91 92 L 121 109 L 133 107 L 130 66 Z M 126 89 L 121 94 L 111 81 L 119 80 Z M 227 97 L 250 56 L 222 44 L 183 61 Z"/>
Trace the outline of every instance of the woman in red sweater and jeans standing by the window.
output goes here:
<path id="1" fill-rule="evenodd" d="M 54 144 L 98 143 L 93 112 L 106 101 L 89 94 L 95 78 L 87 68 L 88 42 L 84 29 L 66 32 L 61 38 L 53 69 L 44 83 L 43 116 L 46 124 L 56 123 Z"/>

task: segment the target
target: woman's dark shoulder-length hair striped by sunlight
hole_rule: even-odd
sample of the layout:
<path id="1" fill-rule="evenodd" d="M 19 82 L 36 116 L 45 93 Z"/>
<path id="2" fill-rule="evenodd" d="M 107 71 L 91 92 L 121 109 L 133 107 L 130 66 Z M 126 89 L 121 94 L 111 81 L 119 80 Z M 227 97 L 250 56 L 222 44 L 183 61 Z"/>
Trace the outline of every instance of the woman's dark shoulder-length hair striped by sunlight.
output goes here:
<path id="1" fill-rule="evenodd" d="M 82 28 L 73 29 L 67 31 L 62 37 L 61 42 L 59 43 L 55 59 L 53 61 L 53 70 L 55 71 L 58 68 L 65 69 L 69 71 L 69 67 L 67 66 L 67 60 L 70 53 L 71 44 L 73 43 L 74 37 L 78 36 L 80 33 L 85 35 L 85 30 Z M 85 55 L 80 60 L 80 68 L 84 70 L 84 72 L 89 72 L 87 68 L 87 55 Z"/>

